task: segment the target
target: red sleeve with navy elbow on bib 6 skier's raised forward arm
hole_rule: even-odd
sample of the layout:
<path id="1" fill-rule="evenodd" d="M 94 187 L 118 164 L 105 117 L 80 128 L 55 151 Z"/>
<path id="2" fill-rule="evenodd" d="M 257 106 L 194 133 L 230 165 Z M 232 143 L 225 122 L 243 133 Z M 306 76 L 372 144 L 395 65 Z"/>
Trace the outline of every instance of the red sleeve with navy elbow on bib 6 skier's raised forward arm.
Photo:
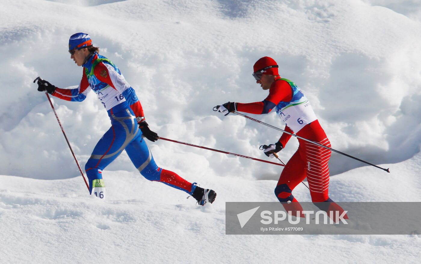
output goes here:
<path id="1" fill-rule="evenodd" d="M 261 102 L 237 103 L 237 110 L 245 113 L 269 113 L 280 101 L 289 102 L 292 99 L 292 89 L 284 80 L 274 81 L 269 89 L 269 95 Z"/>

